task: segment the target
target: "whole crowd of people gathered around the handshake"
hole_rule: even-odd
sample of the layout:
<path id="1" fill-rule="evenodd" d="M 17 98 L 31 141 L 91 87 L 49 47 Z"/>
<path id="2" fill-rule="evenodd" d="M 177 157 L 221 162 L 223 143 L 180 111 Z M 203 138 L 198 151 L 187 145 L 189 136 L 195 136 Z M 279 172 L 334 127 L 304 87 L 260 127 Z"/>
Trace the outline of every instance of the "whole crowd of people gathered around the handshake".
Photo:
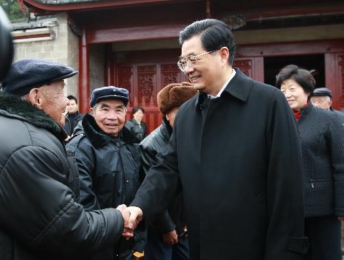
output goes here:
<path id="1" fill-rule="evenodd" d="M 11 65 L 0 259 L 341 259 L 344 116 L 330 89 L 297 65 L 275 86 L 252 80 L 222 21 L 191 23 L 180 45 L 191 83 L 160 90 L 148 136 L 143 107 L 126 122 L 127 89 L 94 89 L 83 115 L 64 95 L 75 69 Z"/>

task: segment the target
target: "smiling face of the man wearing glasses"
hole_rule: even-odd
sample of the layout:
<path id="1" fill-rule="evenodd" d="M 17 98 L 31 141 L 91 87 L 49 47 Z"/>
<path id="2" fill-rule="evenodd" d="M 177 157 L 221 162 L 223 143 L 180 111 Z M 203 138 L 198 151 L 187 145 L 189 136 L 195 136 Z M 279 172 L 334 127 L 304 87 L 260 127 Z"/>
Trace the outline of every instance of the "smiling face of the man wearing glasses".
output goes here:
<path id="1" fill-rule="evenodd" d="M 207 51 L 202 47 L 201 36 L 196 35 L 184 41 L 180 58 L 186 58 L 190 55 L 196 56 L 204 52 Z M 200 56 L 200 58 L 197 58 L 197 65 L 195 67 L 186 66 L 184 72 L 191 80 L 191 83 L 193 83 L 195 89 L 216 96 L 219 89 L 222 88 L 222 85 L 228 79 L 222 80 L 222 78 L 228 77 L 228 75 L 223 75 L 222 69 L 224 65 L 228 65 L 227 63 L 228 57 L 224 60 L 217 50 Z"/>

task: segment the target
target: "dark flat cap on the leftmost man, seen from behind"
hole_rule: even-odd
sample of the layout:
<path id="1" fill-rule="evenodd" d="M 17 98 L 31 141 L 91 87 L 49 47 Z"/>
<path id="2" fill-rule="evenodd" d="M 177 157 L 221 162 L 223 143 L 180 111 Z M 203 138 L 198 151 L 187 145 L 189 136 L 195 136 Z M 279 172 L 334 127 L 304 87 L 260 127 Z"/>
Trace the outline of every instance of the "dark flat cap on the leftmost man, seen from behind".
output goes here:
<path id="1" fill-rule="evenodd" d="M 24 59 L 13 63 L 3 78 L 3 92 L 15 96 L 28 94 L 35 87 L 70 78 L 78 71 L 61 63 L 42 59 Z"/>

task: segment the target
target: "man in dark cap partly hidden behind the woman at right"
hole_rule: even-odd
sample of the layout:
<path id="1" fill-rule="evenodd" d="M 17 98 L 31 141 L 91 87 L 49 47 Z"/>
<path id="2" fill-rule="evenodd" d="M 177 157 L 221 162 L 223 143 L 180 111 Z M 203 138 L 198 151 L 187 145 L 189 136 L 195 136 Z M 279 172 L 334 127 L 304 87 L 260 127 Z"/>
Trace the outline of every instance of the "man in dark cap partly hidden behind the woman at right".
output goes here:
<path id="1" fill-rule="evenodd" d="M 330 89 L 327 89 L 326 87 L 319 87 L 317 89 L 314 89 L 313 94 L 310 98 L 310 102 L 312 102 L 312 105 L 314 107 L 331 110 L 336 113 L 336 116 L 338 116 L 339 120 L 341 120 L 341 123 L 344 126 L 344 113 L 332 109 L 332 92 Z"/>

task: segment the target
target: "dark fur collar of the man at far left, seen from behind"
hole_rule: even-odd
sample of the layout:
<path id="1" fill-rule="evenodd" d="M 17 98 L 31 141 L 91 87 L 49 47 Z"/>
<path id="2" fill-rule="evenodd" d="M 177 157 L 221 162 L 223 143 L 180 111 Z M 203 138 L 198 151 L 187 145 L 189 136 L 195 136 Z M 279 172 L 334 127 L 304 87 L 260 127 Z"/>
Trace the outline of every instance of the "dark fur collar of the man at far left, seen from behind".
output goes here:
<path id="1" fill-rule="evenodd" d="M 63 142 L 67 138 L 67 133 L 60 124 L 55 122 L 43 110 L 38 109 L 25 100 L 17 96 L 0 93 L 0 109 L 7 111 L 8 117 L 29 122 L 35 127 L 41 127 L 50 131 L 58 140 Z"/>

